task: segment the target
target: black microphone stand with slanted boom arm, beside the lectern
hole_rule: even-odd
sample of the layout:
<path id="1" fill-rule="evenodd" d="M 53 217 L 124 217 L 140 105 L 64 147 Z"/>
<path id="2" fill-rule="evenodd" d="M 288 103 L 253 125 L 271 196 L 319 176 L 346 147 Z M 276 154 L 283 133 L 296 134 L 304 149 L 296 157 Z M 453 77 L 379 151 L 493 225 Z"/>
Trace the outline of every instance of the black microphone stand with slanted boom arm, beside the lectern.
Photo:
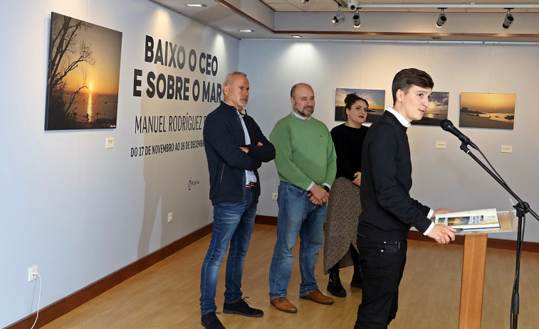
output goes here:
<path id="1" fill-rule="evenodd" d="M 506 184 L 503 179 L 501 179 L 498 175 L 494 174 L 490 168 L 485 166 L 485 164 L 479 160 L 473 153 L 471 153 L 470 149 L 468 149 L 468 142 L 461 139 L 461 150 L 464 151 L 464 153 L 468 154 L 473 158 L 476 163 L 478 163 L 481 168 L 483 168 L 496 182 L 498 182 L 502 188 L 504 188 L 513 198 L 515 198 L 518 203 L 516 205 L 513 205 L 513 207 L 516 209 L 516 214 L 518 216 L 518 230 L 517 230 L 517 240 L 516 240 L 516 269 L 515 269 L 515 282 L 513 284 L 513 295 L 511 298 L 511 328 L 516 329 L 518 326 L 518 311 L 519 311 L 519 301 L 520 297 L 518 296 L 518 284 L 520 279 L 520 254 L 522 254 L 522 246 L 523 246 L 523 237 L 524 237 L 524 223 L 525 223 L 525 214 L 530 212 L 535 219 L 539 220 L 538 215 L 530 208 L 530 205 L 520 199 L 516 193 L 509 188 L 509 186 Z M 481 152 L 481 151 L 480 151 Z M 482 153 L 481 153 L 482 154 Z"/>

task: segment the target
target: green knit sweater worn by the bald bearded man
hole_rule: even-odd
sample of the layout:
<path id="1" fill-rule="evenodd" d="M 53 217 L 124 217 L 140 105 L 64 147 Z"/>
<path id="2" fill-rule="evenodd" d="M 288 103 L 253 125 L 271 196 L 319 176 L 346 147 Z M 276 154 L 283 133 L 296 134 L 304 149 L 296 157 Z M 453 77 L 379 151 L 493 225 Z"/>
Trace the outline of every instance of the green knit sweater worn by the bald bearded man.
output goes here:
<path id="1" fill-rule="evenodd" d="M 273 127 L 270 141 L 276 149 L 275 165 L 281 180 L 305 190 L 313 182 L 333 184 L 337 156 L 330 131 L 323 122 L 288 114 Z"/>

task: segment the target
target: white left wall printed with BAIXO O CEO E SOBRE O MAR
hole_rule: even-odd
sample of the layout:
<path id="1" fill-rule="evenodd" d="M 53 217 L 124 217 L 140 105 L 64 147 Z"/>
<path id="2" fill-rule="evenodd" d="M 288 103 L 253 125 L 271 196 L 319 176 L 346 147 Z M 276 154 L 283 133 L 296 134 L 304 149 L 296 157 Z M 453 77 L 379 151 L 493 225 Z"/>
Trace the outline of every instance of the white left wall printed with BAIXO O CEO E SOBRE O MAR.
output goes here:
<path id="1" fill-rule="evenodd" d="M 116 129 L 44 130 L 52 11 L 122 32 Z M 216 107 L 216 99 L 194 99 L 195 81 L 222 85 L 226 73 L 237 69 L 239 41 L 146 0 L 11 1 L 0 11 L 0 26 L 4 328 L 36 311 L 39 284 L 28 282 L 28 267 L 38 265 L 43 307 L 211 222 L 206 156 L 199 144 L 203 125 L 171 131 L 168 122 L 201 122 Z M 167 60 L 145 61 L 147 36 L 155 41 L 154 58 L 159 40 L 163 56 L 167 42 L 168 54 L 173 46 L 188 55 L 193 50 L 193 70 Z M 150 72 L 181 77 L 184 85 L 189 79 L 189 100 L 148 97 Z M 141 96 L 134 95 L 135 80 Z M 162 117 L 164 127 L 137 131 L 141 117 Z M 112 149 L 105 149 L 108 137 L 114 138 Z M 174 151 L 153 151 L 169 144 Z M 134 156 L 141 148 L 145 155 Z"/>

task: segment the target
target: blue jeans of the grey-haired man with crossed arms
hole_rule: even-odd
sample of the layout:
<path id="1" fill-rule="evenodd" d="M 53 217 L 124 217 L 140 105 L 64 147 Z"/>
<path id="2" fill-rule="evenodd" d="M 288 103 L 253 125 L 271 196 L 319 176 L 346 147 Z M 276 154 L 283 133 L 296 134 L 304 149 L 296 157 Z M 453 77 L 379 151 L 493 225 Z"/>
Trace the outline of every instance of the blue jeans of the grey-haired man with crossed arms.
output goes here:
<path id="1" fill-rule="evenodd" d="M 200 311 L 202 315 L 215 312 L 215 290 L 219 276 L 219 266 L 229 247 L 226 260 L 224 302 L 236 303 L 241 299 L 241 275 L 244 259 L 251 241 L 256 203 L 251 189 L 245 189 L 241 203 L 224 202 L 214 206 L 214 227 L 208 252 L 202 264 L 200 278 Z"/>

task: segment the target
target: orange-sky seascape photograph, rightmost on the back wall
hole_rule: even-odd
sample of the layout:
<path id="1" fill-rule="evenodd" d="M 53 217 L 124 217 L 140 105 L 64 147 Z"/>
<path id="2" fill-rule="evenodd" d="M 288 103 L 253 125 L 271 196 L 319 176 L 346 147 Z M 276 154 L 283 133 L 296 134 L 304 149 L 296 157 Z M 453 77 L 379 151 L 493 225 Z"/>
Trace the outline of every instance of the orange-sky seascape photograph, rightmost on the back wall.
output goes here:
<path id="1" fill-rule="evenodd" d="M 471 128 L 513 129 L 515 94 L 461 93 L 459 126 Z"/>

